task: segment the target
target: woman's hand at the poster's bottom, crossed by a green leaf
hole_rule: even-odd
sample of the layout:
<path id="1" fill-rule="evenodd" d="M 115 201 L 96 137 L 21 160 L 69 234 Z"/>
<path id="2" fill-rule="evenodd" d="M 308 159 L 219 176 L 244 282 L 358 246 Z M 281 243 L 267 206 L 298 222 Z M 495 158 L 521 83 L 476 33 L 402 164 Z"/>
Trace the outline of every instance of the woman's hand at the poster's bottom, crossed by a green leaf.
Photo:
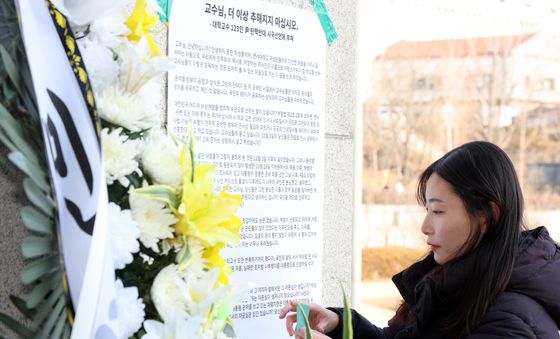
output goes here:
<path id="1" fill-rule="evenodd" d="M 295 333 L 294 324 L 297 322 L 297 304 L 297 301 L 291 300 L 280 311 L 280 319 L 286 318 L 286 329 L 290 336 L 293 336 Z M 336 328 L 339 321 L 336 313 L 317 304 L 309 304 L 308 320 L 313 330 L 313 339 L 328 338 L 321 333 L 332 331 Z M 305 329 L 302 328 L 295 334 L 296 338 L 305 338 Z"/>

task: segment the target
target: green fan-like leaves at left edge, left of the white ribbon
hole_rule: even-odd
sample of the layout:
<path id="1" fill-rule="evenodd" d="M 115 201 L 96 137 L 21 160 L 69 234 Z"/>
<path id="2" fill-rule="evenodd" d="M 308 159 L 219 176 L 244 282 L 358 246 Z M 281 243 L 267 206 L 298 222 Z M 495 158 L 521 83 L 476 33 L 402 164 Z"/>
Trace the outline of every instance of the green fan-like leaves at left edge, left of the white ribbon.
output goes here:
<path id="1" fill-rule="evenodd" d="M 4 313 L 0 323 L 22 338 L 69 338 L 43 138 L 15 6 L 9 0 L 0 1 L 0 142 L 10 150 L 8 159 L 27 176 L 23 186 L 32 204 L 21 211 L 31 232 L 21 244 L 27 259 L 21 278 L 31 293 L 26 298 L 10 296 L 31 325 Z"/>

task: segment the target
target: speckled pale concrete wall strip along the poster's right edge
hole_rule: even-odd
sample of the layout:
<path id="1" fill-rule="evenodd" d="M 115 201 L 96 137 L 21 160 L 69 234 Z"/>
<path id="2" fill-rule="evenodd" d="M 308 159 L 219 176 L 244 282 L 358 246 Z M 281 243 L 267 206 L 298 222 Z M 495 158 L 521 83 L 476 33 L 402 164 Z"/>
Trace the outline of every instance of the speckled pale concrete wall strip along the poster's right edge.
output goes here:
<path id="1" fill-rule="evenodd" d="M 327 47 L 323 304 L 342 305 L 340 283 L 352 299 L 353 224 L 357 225 L 353 223 L 357 1 L 325 3 L 339 38 Z"/>

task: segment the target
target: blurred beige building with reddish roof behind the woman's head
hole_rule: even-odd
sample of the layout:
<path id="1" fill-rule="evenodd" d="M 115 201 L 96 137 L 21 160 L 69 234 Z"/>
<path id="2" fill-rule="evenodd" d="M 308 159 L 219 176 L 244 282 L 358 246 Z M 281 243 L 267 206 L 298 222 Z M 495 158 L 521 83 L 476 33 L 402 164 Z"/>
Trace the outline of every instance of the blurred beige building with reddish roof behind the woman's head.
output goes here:
<path id="1" fill-rule="evenodd" d="M 388 181 L 410 185 L 474 139 L 506 149 L 521 178 L 527 164 L 560 161 L 558 35 L 399 41 L 374 58 L 369 93 L 364 167 Z"/>

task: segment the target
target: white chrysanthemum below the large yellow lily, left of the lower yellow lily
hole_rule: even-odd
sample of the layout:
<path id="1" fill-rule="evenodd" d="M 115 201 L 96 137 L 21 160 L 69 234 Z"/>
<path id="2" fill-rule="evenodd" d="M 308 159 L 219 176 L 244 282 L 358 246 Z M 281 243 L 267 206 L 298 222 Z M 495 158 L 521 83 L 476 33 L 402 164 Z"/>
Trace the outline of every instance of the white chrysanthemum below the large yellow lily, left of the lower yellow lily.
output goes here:
<path id="1" fill-rule="evenodd" d="M 150 294 L 159 315 L 167 321 L 174 316 L 186 316 L 187 300 L 184 298 L 186 287 L 177 265 L 171 264 L 159 271 L 154 279 Z"/>

